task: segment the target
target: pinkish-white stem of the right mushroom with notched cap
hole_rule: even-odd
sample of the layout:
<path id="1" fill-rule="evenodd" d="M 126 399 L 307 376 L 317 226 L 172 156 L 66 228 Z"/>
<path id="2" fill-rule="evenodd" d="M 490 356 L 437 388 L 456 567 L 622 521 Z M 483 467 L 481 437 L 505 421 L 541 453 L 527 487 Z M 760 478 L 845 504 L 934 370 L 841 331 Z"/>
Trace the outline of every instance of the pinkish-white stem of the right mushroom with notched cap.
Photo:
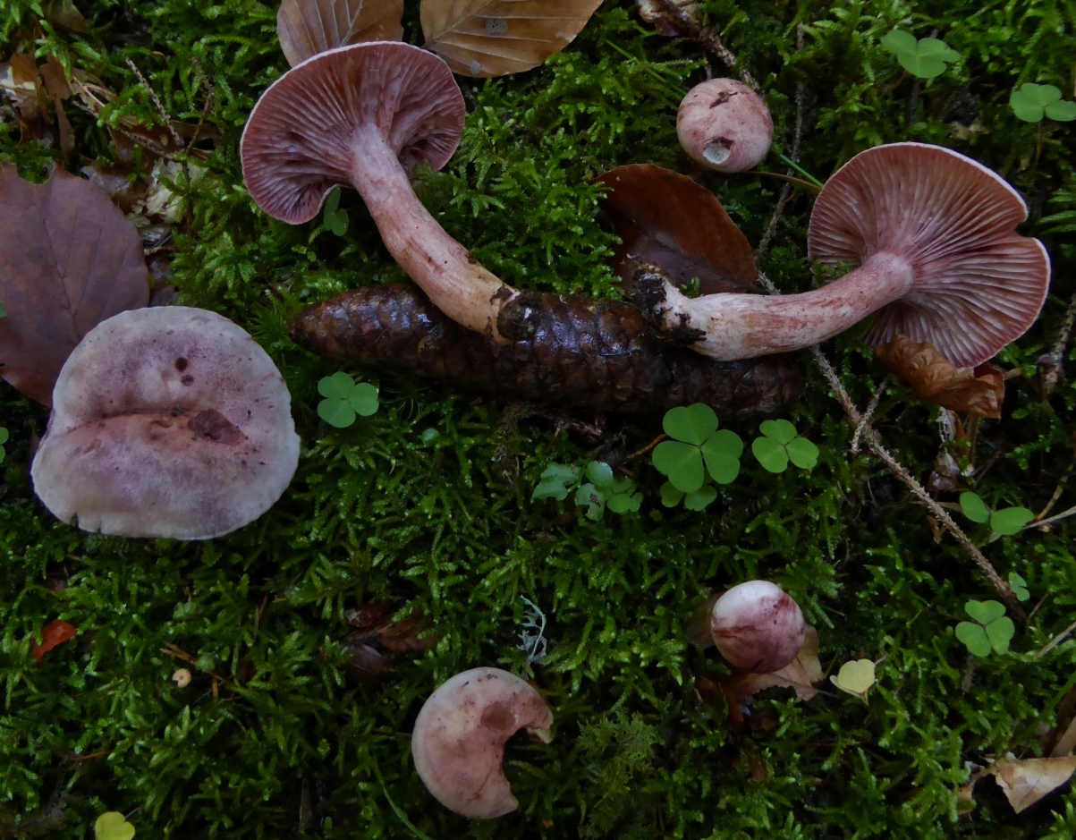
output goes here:
<path id="1" fill-rule="evenodd" d="M 691 348 L 719 361 L 803 350 L 848 329 L 902 298 L 911 266 L 889 252 L 874 254 L 854 271 L 798 295 L 717 294 L 688 298 L 667 281 L 635 297 L 667 330 L 698 336 Z"/>

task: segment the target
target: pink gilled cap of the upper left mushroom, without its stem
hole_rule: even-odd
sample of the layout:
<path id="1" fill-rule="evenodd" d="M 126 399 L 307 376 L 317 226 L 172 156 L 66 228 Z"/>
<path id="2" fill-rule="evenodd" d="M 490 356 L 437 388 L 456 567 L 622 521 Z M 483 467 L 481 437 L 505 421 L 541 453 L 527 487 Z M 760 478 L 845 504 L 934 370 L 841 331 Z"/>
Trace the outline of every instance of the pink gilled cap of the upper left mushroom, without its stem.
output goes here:
<path id="1" fill-rule="evenodd" d="M 308 58 L 258 99 L 240 141 L 243 179 L 273 218 L 299 225 L 350 184 L 360 130 L 383 134 L 405 169 L 443 167 L 459 144 L 466 109 L 448 66 L 398 42 L 341 46 Z"/>

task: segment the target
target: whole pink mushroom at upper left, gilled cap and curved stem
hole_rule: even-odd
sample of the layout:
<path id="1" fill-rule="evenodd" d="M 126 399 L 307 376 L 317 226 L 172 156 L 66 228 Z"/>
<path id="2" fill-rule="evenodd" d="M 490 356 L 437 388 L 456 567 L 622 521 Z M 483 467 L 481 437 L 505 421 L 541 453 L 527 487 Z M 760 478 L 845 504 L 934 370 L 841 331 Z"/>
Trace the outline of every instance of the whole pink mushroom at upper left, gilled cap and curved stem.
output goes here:
<path id="1" fill-rule="evenodd" d="M 404 43 L 342 46 L 296 65 L 251 112 L 240 143 L 251 197 L 292 225 L 338 184 L 363 197 L 397 262 L 453 321 L 507 343 L 496 316 L 515 291 L 450 237 L 411 187 L 459 143 L 463 95 L 448 65 Z"/>

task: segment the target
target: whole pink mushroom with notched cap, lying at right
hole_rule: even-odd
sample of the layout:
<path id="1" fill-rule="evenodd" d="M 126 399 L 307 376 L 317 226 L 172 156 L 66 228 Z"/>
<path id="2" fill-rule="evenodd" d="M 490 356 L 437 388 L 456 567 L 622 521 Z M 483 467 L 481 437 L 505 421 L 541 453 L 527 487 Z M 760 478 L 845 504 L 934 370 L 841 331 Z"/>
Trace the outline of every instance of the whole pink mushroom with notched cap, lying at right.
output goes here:
<path id="1" fill-rule="evenodd" d="M 955 152 L 893 143 L 862 152 L 826 183 L 811 214 L 808 255 L 856 265 L 798 295 L 707 295 L 668 283 L 633 297 L 693 350 L 742 359 L 811 346 L 872 313 L 872 344 L 904 334 L 974 367 L 1022 336 L 1046 299 L 1050 262 L 1016 232 L 1028 210 L 1013 187 Z"/>

